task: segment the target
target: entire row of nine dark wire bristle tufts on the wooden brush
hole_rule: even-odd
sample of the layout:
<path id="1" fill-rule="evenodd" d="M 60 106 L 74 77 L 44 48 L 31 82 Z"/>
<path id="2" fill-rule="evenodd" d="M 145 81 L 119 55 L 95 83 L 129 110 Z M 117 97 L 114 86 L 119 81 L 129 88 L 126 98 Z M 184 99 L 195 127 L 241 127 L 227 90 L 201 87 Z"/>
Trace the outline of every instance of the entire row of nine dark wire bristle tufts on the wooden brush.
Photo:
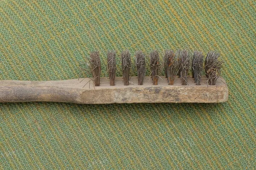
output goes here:
<path id="1" fill-rule="evenodd" d="M 218 77 L 221 74 L 221 67 L 223 61 L 219 60 L 220 54 L 215 51 L 209 51 L 207 57 L 204 59 L 204 55 L 201 51 L 194 51 L 193 56 L 190 55 L 188 50 L 177 50 L 176 54 L 172 50 L 166 50 L 163 57 L 163 68 L 165 69 L 165 76 L 168 80 L 169 85 L 174 84 L 176 75 L 180 77 L 182 85 L 188 85 L 187 77 L 188 72 L 192 70 L 192 78 L 194 78 L 196 85 L 200 85 L 203 67 L 205 75 L 207 77 L 207 84 L 215 85 Z M 161 73 L 161 62 L 160 55 L 157 50 L 151 51 L 150 57 L 150 76 L 153 81 L 153 85 L 158 84 L 158 79 Z M 95 86 L 100 85 L 100 74 L 101 74 L 101 61 L 99 57 L 99 51 L 93 51 L 88 57 L 89 68 L 92 73 L 91 80 Z M 110 85 L 115 85 L 116 79 L 116 51 L 108 51 L 108 76 L 110 79 Z M 192 60 L 190 62 L 190 60 Z M 119 61 L 119 60 L 118 60 Z M 122 76 L 124 85 L 129 85 L 131 76 L 131 54 L 128 50 L 122 51 L 121 53 L 122 63 Z M 146 74 L 146 62 L 145 54 L 142 51 L 136 51 L 135 53 L 135 67 L 138 76 L 138 85 L 143 85 L 143 80 Z M 204 66 L 203 66 L 204 64 Z M 83 69 L 86 71 L 86 69 Z"/>

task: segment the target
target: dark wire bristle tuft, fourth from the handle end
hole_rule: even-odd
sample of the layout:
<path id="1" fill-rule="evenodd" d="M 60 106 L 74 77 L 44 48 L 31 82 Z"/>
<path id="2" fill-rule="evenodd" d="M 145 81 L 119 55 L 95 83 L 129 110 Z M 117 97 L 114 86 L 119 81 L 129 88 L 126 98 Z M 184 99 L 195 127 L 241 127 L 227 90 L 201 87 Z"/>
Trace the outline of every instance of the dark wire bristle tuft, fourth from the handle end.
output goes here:
<path id="1" fill-rule="evenodd" d="M 137 68 L 138 74 L 138 85 L 143 85 L 143 80 L 146 74 L 146 63 L 145 63 L 145 55 L 142 51 L 137 51 L 136 54 L 135 65 Z"/>

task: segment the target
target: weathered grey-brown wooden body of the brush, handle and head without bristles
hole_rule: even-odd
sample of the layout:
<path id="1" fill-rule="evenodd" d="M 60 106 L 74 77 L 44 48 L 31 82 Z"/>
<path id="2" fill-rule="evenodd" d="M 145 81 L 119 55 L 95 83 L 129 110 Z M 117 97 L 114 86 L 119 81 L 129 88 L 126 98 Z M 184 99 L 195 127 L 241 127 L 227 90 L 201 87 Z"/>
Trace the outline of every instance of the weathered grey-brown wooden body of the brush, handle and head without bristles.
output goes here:
<path id="1" fill-rule="evenodd" d="M 82 82 L 81 80 L 1 80 L 0 102 L 218 103 L 228 99 L 227 84 L 221 77 L 216 85 L 207 85 L 205 78 L 202 79 L 201 85 L 195 85 L 191 77 L 188 78 L 188 85 L 181 85 L 178 77 L 175 78 L 174 85 L 168 85 L 165 77 L 159 79 L 158 85 L 152 85 L 149 77 L 145 77 L 143 85 L 137 85 L 137 77 L 131 77 L 130 85 L 123 85 L 122 77 L 116 77 L 115 86 L 110 86 L 109 79 L 102 77 L 98 87 L 93 87 L 93 82 L 88 82 L 89 78 Z"/>

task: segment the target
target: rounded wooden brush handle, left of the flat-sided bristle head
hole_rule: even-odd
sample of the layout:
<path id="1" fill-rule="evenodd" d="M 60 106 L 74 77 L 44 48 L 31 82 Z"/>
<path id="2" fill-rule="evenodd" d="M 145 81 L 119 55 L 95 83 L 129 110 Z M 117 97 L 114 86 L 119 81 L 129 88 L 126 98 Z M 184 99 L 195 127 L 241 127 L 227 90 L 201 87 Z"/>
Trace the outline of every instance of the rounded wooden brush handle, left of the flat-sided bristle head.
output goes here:
<path id="1" fill-rule="evenodd" d="M 62 81 L 0 81 L 0 102 L 75 102 L 77 79 Z"/>

